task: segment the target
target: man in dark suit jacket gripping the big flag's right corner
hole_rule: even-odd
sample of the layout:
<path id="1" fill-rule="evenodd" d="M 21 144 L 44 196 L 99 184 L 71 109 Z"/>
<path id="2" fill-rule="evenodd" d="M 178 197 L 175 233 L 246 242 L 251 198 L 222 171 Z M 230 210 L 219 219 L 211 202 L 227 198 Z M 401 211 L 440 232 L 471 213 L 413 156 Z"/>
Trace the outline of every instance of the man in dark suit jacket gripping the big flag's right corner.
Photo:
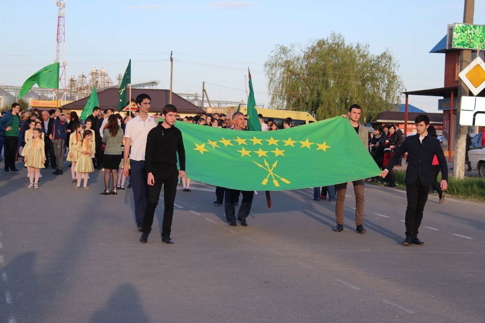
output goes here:
<path id="1" fill-rule="evenodd" d="M 448 166 L 439 140 L 428 135 L 429 118 L 420 114 L 414 120 L 416 131 L 414 136 L 404 139 L 403 144 L 389 159 L 386 168 L 379 174 L 386 177 L 389 169 L 392 169 L 396 160 L 407 152 L 406 169 L 406 196 L 407 208 L 405 216 L 406 239 L 404 246 L 424 245 L 418 239 L 418 229 L 423 217 L 424 205 L 428 200 L 429 188 L 433 184 L 433 158 L 436 154 L 441 169 L 441 189 L 448 188 Z"/>

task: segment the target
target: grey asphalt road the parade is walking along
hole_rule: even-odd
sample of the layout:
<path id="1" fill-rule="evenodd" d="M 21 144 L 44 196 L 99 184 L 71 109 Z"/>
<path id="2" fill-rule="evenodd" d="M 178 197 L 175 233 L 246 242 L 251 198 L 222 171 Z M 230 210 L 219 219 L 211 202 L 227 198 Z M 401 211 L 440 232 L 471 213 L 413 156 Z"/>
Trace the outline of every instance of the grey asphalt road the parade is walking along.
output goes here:
<path id="1" fill-rule="evenodd" d="M 74 190 L 69 169 L 0 174 L 0 322 L 484 322 L 484 204 L 430 196 L 402 246 L 405 192 L 367 185 L 367 233 L 345 229 L 312 189 L 255 196 L 248 227 L 227 225 L 214 187 L 179 191 L 172 235 L 138 241 L 131 189 Z M 221 171 L 214 173 L 225 176 Z M 225 174 L 227 172 L 224 172 Z M 162 204 L 161 200 L 161 204 Z M 161 205 L 159 205 L 161 206 Z"/>

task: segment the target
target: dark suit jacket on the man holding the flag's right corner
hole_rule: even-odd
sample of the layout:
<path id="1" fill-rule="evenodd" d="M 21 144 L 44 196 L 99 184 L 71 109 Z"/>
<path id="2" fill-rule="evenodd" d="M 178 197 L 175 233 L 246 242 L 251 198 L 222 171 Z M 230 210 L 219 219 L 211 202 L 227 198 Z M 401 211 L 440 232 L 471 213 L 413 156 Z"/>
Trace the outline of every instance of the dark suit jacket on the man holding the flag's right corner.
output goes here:
<path id="1" fill-rule="evenodd" d="M 416 182 L 419 178 L 424 186 L 433 184 L 433 158 L 438 158 L 441 178 L 448 181 L 448 164 L 439 140 L 427 135 L 420 142 L 420 135 L 409 136 L 404 139 L 401 147 L 396 149 L 389 159 L 385 169 L 389 170 L 396 164 L 399 156 L 407 152 L 406 184 Z"/>

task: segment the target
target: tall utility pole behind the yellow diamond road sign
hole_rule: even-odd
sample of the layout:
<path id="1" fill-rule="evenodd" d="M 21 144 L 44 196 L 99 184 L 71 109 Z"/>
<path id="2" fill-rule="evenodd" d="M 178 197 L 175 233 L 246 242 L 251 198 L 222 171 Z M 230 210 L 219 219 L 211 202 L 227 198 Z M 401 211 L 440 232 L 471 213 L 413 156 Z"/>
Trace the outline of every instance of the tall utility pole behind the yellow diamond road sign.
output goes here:
<path id="1" fill-rule="evenodd" d="M 465 0 L 463 9 L 463 23 L 473 23 L 473 13 L 475 0 Z M 462 49 L 460 53 L 460 71 L 462 71 L 471 62 L 471 50 Z M 467 128 L 460 125 L 461 99 L 469 95 L 467 86 L 460 79 L 458 80 L 458 104 L 456 105 L 456 127 L 455 127 L 455 155 L 453 162 L 453 177 L 465 177 L 465 150 L 467 145 Z M 450 124 L 450 127 L 452 125 Z"/>

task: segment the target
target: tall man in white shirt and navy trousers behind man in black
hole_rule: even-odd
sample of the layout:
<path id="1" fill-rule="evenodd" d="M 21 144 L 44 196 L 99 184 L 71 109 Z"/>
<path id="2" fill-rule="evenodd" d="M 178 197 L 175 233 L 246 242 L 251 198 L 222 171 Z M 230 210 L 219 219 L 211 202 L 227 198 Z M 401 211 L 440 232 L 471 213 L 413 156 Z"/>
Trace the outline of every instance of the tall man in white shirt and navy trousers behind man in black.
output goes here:
<path id="1" fill-rule="evenodd" d="M 146 136 L 148 132 L 157 126 L 157 122 L 148 116 L 151 98 L 148 94 L 140 94 L 136 97 L 136 105 L 139 113 L 126 123 L 125 149 L 123 155 L 123 172 L 128 176 L 128 158 L 131 168 L 131 187 L 135 201 L 135 220 L 138 231 L 142 230 L 143 217 L 145 216 L 146 202 L 148 200 L 148 182 L 145 165 Z M 131 150 L 130 150 L 131 147 Z"/>

